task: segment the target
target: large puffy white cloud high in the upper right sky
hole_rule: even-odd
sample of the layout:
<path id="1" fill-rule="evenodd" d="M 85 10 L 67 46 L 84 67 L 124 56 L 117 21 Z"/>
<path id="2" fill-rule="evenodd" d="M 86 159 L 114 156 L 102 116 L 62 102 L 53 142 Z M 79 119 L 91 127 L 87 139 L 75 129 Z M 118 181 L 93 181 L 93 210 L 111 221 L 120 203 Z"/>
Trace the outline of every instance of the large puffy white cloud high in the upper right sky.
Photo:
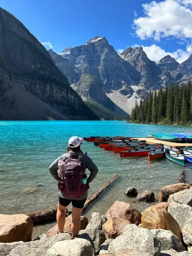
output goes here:
<path id="1" fill-rule="evenodd" d="M 140 39 L 174 36 L 192 38 L 192 10 L 184 6 L 191 0 L 152 1 L 143 4 L 145 15 L 134 19 L 134 28 Z"/>

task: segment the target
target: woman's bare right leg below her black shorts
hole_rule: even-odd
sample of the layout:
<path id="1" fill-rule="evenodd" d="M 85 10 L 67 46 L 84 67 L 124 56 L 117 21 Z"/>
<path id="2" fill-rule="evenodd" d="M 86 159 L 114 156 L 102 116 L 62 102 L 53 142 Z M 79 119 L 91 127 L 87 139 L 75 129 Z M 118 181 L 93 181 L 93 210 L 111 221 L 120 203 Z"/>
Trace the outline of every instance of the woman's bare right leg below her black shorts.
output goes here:
<path id="1" fill-rule="evenodd" d="M 74 239 L 81 228 L 81 213 L 83 208 L 76 208 L 73 206 L 72 209 L 72 223 L 71 223 L 71 233 L 72 239 Z"/>

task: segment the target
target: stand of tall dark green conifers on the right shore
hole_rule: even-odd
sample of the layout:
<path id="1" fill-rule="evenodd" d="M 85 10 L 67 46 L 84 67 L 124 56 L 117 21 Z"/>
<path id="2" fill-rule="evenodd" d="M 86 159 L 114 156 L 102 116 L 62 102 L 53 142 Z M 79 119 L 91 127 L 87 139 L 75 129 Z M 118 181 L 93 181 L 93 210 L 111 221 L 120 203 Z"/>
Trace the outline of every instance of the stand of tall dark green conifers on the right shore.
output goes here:
<path id="1" fill-rule="evenodd" d="M 150 91 L 149 98 L 135 102 L 134 123 L 192 124 L 192 84 L 173 84 L 163 90 Z"/>

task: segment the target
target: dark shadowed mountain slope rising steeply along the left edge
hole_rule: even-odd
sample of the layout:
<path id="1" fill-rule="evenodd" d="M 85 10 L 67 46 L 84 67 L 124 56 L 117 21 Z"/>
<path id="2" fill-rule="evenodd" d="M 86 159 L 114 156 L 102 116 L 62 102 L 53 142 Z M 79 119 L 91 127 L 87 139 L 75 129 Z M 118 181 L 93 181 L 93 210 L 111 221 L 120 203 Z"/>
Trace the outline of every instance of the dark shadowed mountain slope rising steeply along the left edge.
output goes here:
<path id="1" fill-rule="evenodd" d="M 3 118 L 98 119 L 70 87 L 45 47 L 2 8 L 0 49 L 0 115 Z"/>

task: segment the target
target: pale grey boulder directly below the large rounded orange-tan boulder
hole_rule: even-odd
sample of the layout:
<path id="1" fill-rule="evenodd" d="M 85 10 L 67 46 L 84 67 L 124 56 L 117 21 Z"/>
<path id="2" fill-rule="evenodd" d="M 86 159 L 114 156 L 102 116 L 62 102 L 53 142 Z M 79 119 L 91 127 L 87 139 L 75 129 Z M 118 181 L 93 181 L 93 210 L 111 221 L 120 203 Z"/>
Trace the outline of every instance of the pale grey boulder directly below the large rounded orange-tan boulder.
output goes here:
<path id="1" fill-rule="evenodd" d="M 185 251 L 185 247 L 183 246 L 183 244 L 179 241 L 178 237 L 175 236 L 170 230 L 152 229 L 151 232 L 161 241 L 161 251 L 170 249 L 178 252 Z"/>

